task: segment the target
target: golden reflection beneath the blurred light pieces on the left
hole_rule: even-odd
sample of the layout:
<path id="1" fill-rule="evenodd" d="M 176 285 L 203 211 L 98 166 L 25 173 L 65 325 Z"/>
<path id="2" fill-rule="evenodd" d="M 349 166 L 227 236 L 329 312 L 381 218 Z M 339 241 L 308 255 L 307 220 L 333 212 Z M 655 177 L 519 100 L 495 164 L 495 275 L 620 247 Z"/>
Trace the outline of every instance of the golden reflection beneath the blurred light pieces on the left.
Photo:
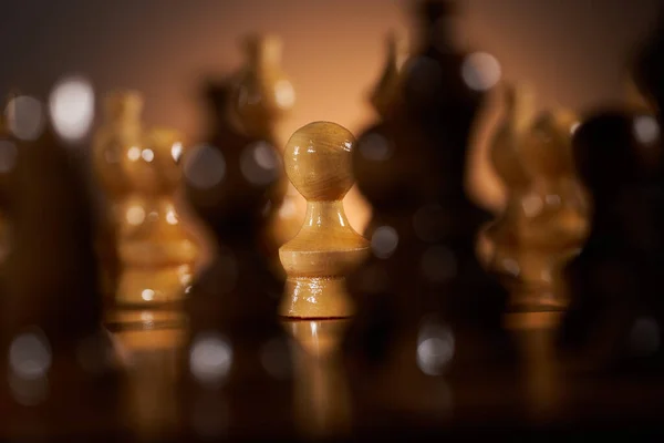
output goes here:
<path id="1" fill-rule="evenodd" d="M 178 311 L 118 312 L 108 319 L 115 351 L 125 368 L 124 420 L 138 441 L 163 441 L 177 426 L 173 390 L 186 333 Z"/>

